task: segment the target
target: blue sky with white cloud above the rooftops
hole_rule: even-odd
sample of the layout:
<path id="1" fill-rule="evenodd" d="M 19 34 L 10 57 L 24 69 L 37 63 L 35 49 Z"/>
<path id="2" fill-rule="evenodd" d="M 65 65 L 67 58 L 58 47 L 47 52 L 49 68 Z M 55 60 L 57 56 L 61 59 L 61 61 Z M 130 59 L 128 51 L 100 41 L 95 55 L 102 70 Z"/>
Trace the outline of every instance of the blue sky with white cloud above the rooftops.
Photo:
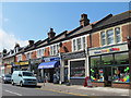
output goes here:
<path id="1" fill-rule="evenodd" d="M 47 38 L 49 28 L 58 34 L 80 26 L 81 14 L 91 23 L 108 14 L 129 10 L 128 2 L 2 2 L 0 3 L 0 51 L 10 50 L 19 42 Z"/>

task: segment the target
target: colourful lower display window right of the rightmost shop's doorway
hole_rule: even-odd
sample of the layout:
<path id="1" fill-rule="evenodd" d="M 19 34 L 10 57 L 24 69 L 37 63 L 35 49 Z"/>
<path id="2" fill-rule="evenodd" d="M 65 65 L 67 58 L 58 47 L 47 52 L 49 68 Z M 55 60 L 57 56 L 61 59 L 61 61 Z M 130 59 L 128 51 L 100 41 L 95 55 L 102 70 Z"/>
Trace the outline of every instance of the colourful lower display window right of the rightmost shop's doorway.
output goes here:
<path id="1" fill-rule="evenodd" d="M 129 66 L 115 66 L 112 73 L 114 82 L 129 83 Z"/>

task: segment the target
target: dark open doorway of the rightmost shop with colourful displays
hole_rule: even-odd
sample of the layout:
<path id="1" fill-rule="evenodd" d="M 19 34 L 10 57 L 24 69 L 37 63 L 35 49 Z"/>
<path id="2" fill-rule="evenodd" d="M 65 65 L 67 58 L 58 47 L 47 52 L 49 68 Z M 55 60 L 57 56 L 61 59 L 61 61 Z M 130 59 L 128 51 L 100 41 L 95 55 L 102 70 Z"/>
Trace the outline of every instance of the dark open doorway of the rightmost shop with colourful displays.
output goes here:
<path id="1" fill-rule="evenodd" d="M 110 87 L 111 86 L 111 66 L 105 68 L 105 86 Z"/>

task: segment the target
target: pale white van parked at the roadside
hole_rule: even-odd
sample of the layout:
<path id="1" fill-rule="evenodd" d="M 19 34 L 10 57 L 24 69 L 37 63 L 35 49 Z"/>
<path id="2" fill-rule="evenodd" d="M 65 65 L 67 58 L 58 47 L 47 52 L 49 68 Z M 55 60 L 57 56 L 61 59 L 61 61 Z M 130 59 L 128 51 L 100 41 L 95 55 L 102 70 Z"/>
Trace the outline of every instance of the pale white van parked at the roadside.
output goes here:
<path id="1" fill-rule="evenodd" d="M 29 71 L 14 71 L 11 76 L 12 85 L 16 84 L 21 87 L 24 85 L 37 86 L 37 79 Z"/>

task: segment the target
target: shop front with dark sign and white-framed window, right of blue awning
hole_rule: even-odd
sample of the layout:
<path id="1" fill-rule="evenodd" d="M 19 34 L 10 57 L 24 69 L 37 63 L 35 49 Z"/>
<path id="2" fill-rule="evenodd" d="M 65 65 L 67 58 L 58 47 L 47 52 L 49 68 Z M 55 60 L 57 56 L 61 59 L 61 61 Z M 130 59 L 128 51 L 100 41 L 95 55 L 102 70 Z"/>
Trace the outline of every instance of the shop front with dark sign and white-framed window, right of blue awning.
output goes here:
<path id="1" fill-rule="evenodd" d="M 71 85 L 84 84 L 86 76 L 85 57 L 85 51 L 62 53 L 61 59 L 64 65 L 64 82 L 70 82 Z"/>

